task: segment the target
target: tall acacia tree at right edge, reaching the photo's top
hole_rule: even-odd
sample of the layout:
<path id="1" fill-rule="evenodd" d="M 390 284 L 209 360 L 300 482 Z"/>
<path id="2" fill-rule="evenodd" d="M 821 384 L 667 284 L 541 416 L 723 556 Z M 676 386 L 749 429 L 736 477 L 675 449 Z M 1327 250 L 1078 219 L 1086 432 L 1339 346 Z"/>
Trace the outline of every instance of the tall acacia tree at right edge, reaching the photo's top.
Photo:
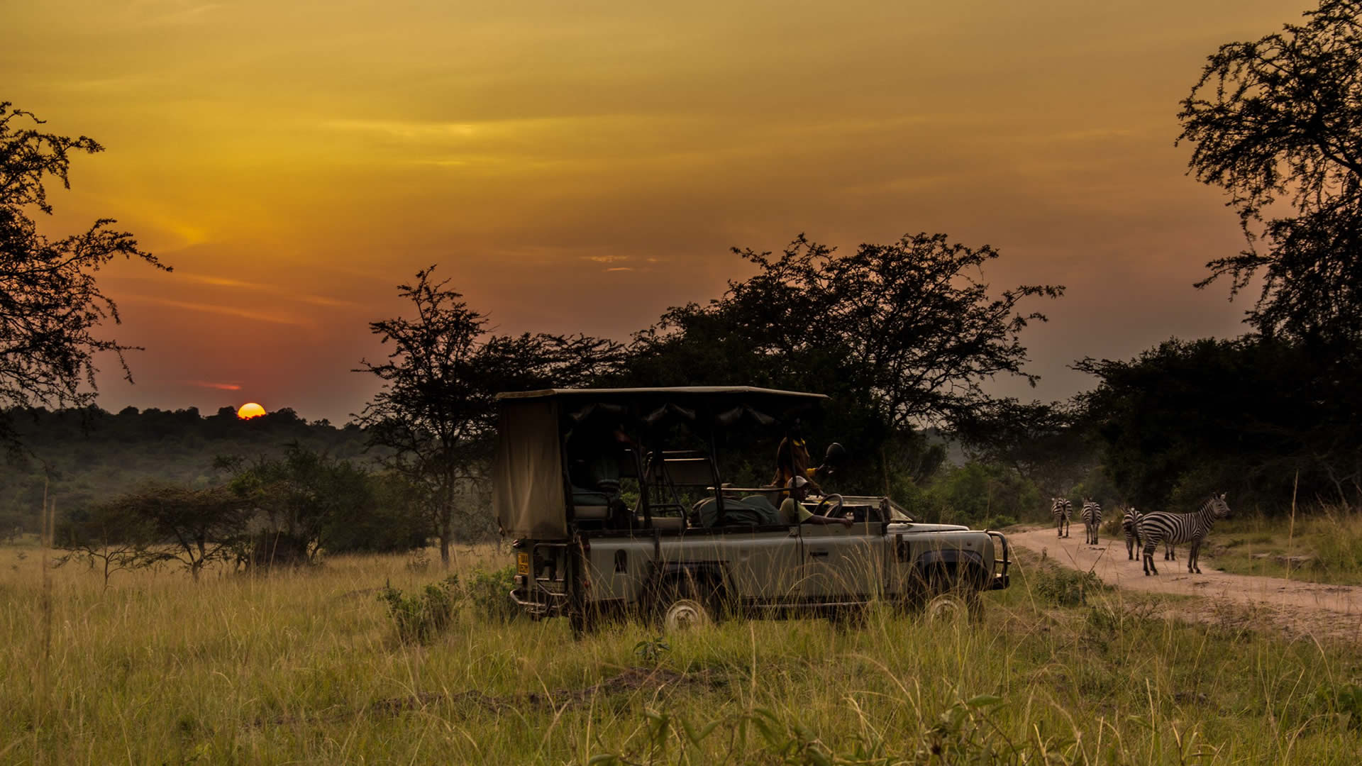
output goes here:
<path id="1" fill-rule="evenodd" d="M 1207 263 L 1231 297 L 1263 277 L 1260 333 L 1355 349 L 1362 339 L 1362 3 L 1209 56 L 1182 101 L 1189 173 L 1223 187 L 1246 249 Z"/>

